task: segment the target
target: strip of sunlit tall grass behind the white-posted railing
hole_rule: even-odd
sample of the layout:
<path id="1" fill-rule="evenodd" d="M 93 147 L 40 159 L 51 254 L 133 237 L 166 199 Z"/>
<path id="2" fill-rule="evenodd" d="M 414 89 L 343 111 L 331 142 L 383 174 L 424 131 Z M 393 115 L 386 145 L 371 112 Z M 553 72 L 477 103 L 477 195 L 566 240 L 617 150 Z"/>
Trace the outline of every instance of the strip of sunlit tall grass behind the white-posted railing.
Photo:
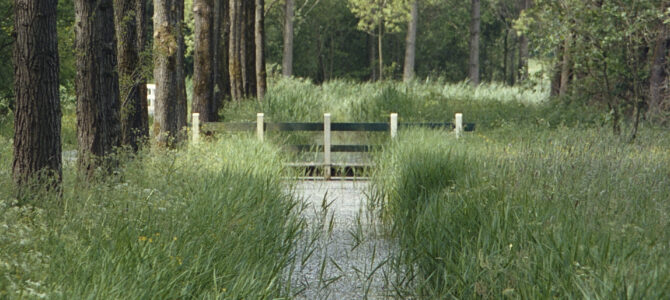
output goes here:
<path id="1" fill-rule="evenodd" d="M 335 80 L 315 86 L 308 80 L 273 78 L 267 98 L 229 103 L 226 121 L 253 121 L 264 112 L 270 121 L 319 122 L 330 112 L 334 122 L 384 122 L 398 113 L 401 122 L 451 121 L 454 113 L 480 128 L 506 124 L 546 126 L 598 124 L 604 116 L 577 103 L 548 100 L 542 89 L 487 84 L 472 87 L 441 80 L 359 83 Z"/>

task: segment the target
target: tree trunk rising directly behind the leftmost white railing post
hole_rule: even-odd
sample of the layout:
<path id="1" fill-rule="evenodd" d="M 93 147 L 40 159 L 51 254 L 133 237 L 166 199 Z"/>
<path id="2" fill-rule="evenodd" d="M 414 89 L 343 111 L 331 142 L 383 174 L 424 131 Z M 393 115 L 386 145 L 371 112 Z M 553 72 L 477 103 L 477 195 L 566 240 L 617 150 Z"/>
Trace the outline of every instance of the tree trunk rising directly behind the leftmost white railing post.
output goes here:
<path id="1" fill-rule="evenodd" d="M 214 2 L 213 0 L 194 0 L 193 16 L 195 23 L 193 50 L 193 99 L 192 113 L 200 113 L 202 122 L 211 122 L 214 101 Z"/>

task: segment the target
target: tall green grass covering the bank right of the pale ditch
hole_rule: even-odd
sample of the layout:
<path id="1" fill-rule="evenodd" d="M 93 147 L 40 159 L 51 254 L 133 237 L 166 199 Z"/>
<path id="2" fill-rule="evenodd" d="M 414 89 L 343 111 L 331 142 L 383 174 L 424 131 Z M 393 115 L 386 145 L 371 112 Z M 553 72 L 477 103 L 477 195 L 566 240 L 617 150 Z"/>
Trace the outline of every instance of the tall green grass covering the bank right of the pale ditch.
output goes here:
<path id="1" fill-rule="evenodd" d="M 404 132 L 375 175 L 400 295 L 667 298 L 670 137 L 642 136 Z"/>

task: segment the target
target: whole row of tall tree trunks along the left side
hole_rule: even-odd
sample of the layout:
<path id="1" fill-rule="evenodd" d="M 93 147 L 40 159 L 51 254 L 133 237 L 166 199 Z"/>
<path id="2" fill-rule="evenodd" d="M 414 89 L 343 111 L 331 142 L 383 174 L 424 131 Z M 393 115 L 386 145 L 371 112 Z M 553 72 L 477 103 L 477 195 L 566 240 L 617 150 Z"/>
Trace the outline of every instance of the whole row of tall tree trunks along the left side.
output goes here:
<path id="1" fill-rule="evenodd" d="M 157 143 L 172 147 L 187 122 L 184 0 L 153 1 L 153 48 L 147 1 L 75 0 L 78 168 L 91 179 L 117 163 L 119 147 L 148 138 L 146 66 L 153 58 Z M 14 162 L 18 186 L 59 186 L 61 105 L 57 0 L 15 0 Z M 196 0 L 191 110 L 215 120 L 222 99 L 266 89 L 264 1 Z M 147 55 L 149 52 L 151 55 Z M 37 175 L 37 176 L 36 176 Z M 35 181 L 37 180 L 37 181 Z M 21 189 L 19 189 L 21 190 Z"/>

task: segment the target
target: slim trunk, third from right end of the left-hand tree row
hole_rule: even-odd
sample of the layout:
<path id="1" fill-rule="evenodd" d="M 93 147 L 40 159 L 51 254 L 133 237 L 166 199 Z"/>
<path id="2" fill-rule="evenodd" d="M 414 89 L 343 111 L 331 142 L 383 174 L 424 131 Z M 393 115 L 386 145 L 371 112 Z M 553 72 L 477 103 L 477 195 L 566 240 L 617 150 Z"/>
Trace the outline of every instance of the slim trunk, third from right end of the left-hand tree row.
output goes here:
<path id="1" fill-rule="evenodd" d="M 230 0 L 230 39 L 228 52 L 228 70 L 230 74 L 230 94 L 234 100 L 242 100 L 244 87 L 242 76 L 242 1 Z"/>

